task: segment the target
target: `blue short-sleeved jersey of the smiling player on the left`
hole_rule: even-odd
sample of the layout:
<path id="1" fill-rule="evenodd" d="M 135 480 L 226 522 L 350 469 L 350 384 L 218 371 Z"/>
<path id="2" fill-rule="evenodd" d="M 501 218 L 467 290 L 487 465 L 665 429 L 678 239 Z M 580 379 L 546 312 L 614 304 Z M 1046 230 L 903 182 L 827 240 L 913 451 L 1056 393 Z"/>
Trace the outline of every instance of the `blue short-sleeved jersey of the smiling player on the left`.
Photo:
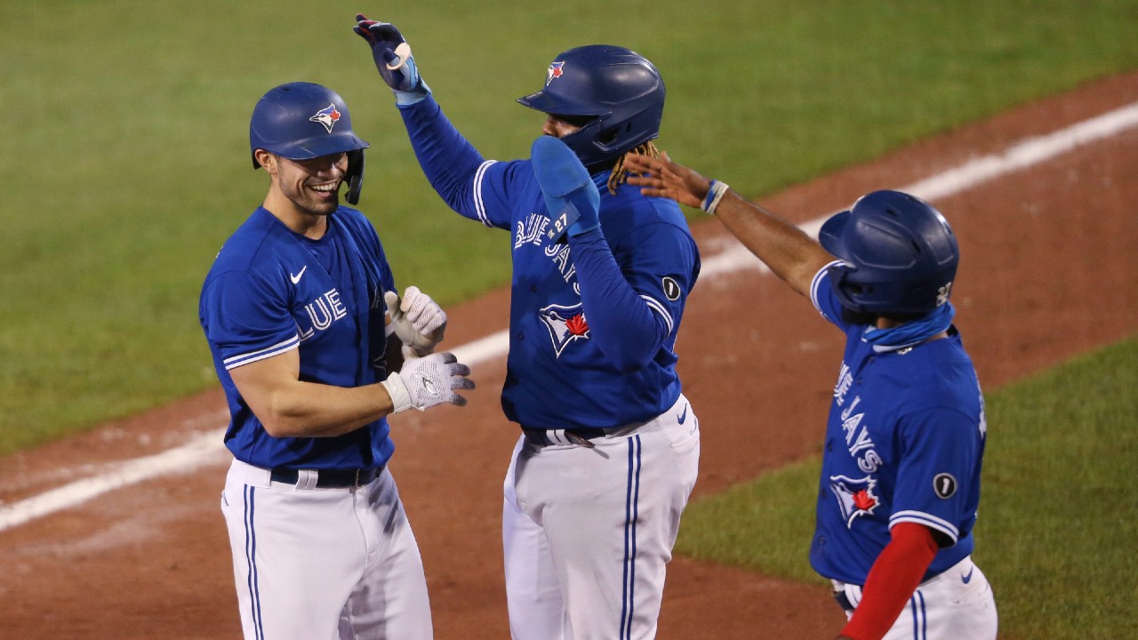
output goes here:
<path id="1" fill-rule="evenodd" d="M 201 288 L 198 317 L 231 421 L 225 445 L 263 468 L 352 469 L 385 463 L 395 446 L 386 418 L 336 437 L 272 437 L 229 371 L 299 350 L 300 379 L 356 387 L 386 379 L 384 297 L 395 290 L 374 228 L 339 207 L 319 240 L 263 207 L 225 241 Z"/>

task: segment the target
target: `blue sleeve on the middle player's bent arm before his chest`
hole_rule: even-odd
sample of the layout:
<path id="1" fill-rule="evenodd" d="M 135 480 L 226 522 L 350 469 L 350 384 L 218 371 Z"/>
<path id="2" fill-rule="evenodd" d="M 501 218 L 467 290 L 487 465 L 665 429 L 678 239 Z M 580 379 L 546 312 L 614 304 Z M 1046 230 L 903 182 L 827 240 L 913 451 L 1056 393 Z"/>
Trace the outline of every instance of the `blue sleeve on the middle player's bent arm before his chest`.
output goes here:
<path id="1" fill-rule="evenodd" d="M 655 356 L 671 333 L 625 279 L 600 229 L 569 238 L 591 337 L 620 371 L 635 371 Z"/>

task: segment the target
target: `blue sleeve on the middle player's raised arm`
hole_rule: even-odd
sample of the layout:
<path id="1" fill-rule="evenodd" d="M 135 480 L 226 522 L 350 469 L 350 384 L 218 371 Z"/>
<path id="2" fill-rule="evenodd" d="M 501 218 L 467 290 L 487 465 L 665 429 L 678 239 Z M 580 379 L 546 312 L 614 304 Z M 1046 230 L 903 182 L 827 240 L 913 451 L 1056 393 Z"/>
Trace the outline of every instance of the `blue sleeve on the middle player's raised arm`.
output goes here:
<path id="1" fill-rule="evenodd" d="M 473 183 L 483 156 L 451 124 L 432 96 L 413 105 L 399 105 L 411 147 L 431 187 L 454 211 L 479 220 L 473 205 Z"/>

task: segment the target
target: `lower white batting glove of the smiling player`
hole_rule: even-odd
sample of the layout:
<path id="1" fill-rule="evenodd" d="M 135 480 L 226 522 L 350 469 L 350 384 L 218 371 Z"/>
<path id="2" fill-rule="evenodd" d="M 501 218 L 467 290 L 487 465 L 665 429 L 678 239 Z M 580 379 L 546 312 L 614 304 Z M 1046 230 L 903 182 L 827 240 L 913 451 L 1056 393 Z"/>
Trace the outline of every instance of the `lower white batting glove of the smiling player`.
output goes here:
<path id="1" fill-rule="evenodd" d="M 457 361 L 453 353 L 432 353 L 426 358 L 412 358 L 403 363 L 403 369 L 391 374 L 380 383 L 391 396 L 391 413 L 414 407 L 420 411 L 450 402 L 462 407 L 467 399 L 455 389 L 472 389 L 475 381 L 468 378 L 470 367 Z"/>

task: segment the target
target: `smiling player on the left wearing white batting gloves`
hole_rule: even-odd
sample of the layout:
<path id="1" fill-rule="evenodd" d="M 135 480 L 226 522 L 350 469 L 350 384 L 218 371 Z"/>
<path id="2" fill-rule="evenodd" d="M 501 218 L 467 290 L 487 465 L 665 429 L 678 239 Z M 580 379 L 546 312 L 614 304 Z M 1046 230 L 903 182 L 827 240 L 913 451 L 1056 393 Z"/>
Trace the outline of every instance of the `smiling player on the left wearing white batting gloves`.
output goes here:
<path id="1" fill-rule="evenodd" d="M 344 183 L 357 202 L 368 147 L 344 100 L 277 87 L 249 143 L 269 194 L 217 254 L 198 311 L 232 417 L 222 512 L 245 638 L 429 639 L 386 416 L 465 404 L 469 369 L 431 353 L 446 313 L 415 287 L 395 293 L 374 228 L 339 204 Z"/>

